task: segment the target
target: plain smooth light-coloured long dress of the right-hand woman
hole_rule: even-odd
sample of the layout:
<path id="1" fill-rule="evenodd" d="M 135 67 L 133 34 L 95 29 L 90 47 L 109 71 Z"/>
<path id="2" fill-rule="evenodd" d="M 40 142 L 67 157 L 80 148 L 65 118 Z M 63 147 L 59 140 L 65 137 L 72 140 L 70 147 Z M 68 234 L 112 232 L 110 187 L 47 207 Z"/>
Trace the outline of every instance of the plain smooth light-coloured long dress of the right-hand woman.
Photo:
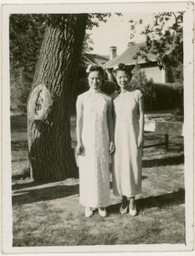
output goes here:
<path id="1" fill-rule="evenodd" d="M 141 193 L 142 147 L 137 148 L 141 96 L 141 90 L 112 94 L 116 148 L 112 155 L 114 195 L 130 197 Z"/>

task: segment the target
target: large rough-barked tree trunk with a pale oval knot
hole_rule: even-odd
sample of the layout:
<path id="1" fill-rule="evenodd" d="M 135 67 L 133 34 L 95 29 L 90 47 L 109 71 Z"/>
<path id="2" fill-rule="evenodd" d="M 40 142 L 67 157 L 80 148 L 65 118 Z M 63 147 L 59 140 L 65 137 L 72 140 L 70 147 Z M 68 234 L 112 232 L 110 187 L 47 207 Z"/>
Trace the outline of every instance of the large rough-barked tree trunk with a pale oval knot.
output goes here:
<path id="1" fill-rule="evenodd" d="M 83 48 L 87 15 L 52 15 L 28 100 L 28 149 L 36 181 L 77 177 L 72 150 L 72 86 Z"/>

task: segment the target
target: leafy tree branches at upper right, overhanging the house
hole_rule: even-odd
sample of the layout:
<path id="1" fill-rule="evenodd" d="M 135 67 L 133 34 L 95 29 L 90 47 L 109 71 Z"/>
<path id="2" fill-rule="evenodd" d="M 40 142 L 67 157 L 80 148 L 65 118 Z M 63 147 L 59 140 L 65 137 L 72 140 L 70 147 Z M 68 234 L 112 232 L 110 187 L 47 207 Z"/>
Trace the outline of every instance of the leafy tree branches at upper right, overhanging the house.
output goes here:
<path id="1" fill-rule="evenodd" d="M 145 61 L 149 61 L 148 53 L 157 55 L 159 67 L 167 70 L 167 82 L 183 81 L 183 14 L 184 12 L 159 13 L 155 15 L 153 24 L 145 26 L 141 31 L 146 37 L 146 44 L 141 46 L 137 55 Z M 142 26 L 143 20 L 129 22 L 130 38 L 133 39 L 137 26 Z"/>

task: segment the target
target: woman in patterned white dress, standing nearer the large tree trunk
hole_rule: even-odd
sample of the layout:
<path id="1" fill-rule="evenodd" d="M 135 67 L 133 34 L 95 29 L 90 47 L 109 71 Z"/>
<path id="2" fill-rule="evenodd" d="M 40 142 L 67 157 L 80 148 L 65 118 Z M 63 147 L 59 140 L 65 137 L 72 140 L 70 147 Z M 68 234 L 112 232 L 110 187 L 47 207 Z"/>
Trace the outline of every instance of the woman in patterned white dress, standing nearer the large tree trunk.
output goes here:
<path id="1" fill-rule="evenodd" d="M 80 203 L 85 216 L 94 208 L 106 217 L 110 205 L 109 153 L 114 150 L 112 98 L 100 91 L 104 70 L 87 69 L 89 90 L 77 97 L 77 148 Z"/>

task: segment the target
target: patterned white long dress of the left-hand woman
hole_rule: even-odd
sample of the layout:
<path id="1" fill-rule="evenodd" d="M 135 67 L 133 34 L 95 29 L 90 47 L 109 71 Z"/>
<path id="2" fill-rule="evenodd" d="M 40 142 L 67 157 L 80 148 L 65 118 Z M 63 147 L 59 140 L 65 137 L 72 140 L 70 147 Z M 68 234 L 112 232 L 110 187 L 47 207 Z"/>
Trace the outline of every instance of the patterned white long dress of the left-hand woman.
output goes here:
<path id="1" fill-rule="evenodd" d="M 110 205 L 109 133 L 106 110 L 112 98 L 89 89 L 77 97 L 83 102 L 82 141 L 79 160 L 80 203 L 84 207 Z"/>

